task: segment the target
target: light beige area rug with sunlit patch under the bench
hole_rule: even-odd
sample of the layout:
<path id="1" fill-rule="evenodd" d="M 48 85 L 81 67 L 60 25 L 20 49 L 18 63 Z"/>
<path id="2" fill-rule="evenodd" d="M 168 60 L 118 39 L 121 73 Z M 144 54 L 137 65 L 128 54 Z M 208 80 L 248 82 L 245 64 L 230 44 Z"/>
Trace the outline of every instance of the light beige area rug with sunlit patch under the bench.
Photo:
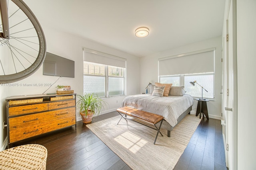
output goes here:
<path id="1" fill-rule="evenodd" d="M 140 123 L 112 117 L 86 125 L 102 142 L 116 153 L 133 170 L 172 170 L 187 147 L 201 119 L 187 115 L 171 131 L 157 131 Z"/>

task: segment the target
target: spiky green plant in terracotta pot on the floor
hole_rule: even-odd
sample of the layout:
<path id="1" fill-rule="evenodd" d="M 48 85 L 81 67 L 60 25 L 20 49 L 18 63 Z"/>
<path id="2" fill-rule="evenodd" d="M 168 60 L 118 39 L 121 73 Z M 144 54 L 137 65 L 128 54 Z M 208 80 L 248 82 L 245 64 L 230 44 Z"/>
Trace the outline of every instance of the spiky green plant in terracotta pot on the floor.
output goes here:
<path id="1" fill-rule="evenodd" d="M 91 123 L 92 117 L 104 111 L 106 102 L 98 97 L 97 94 L 85 93 L 84 96 L 77 95 L 77 108 L 80 111 L 83 123 Z"/>

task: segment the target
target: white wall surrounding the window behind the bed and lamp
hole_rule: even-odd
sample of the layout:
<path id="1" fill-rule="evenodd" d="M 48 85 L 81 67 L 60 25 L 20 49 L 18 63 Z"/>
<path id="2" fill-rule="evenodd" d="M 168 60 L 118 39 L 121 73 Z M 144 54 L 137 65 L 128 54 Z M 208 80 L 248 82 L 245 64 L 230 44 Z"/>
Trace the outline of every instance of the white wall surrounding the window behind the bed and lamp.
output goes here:
<path id="1" fill-rule="evenodd" d="M 201 41 L 198 43 L 188 44 L 182 47 L 177 47 L 167 51 L 163 51 L 154 55 L 142 57 L 140 60 L 140 76 L 141 76 L 141 86 L 140 92 L 145 92 L 145 88 L 148 82 L 155 83 L 158 82 L 158 59 L 163 57 L 170 57 L 174 55 L 189 53 L 193 51 L 199 51 L 203 49 L 215 48 L 215 101 L 210 101 L 207 103 L 209 117 L 214 119 L 221 119 L 221 81 L 222 81 L 222 38 L 215 37 L 208 39 L 206 41 Z M 200 66 L 199 63 L 198 66 Z M 192 107 L 192 114 L 196 114 L 197 101 L 194 100 L 194 105 Z"/>

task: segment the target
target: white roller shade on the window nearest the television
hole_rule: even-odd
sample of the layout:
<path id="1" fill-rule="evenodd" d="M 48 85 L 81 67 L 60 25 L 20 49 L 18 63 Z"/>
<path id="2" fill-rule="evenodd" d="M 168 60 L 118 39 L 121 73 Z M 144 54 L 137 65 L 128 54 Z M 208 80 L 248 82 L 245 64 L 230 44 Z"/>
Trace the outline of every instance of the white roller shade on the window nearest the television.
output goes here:
<path id="1" fill-rule="evenodd" d="M 126 59 L 90 49 L 84 49 L 84 61 L 126 68 Z"/>

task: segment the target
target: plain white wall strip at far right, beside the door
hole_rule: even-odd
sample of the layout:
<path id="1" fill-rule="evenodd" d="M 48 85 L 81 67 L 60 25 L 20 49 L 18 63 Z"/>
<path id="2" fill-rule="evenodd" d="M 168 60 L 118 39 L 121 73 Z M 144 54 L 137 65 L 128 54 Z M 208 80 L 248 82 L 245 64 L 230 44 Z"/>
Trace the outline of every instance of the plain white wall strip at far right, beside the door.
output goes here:
<path id="1" fill-rule="evenodd" d="M 256 1 L 237 2 L 238 170 L 255 170 Z"/>

